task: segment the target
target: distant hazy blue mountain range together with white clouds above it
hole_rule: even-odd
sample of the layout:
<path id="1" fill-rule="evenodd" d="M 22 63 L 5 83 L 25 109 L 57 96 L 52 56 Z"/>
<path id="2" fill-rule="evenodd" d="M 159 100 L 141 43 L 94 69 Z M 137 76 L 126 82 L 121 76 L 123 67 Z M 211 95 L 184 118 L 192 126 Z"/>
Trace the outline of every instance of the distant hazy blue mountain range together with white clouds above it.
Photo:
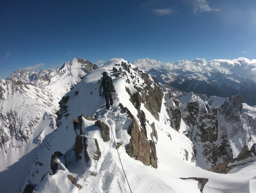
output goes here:
<path id="1" fill-rule="evenodd" d="M 253 65 L 242 65 L 246 58 L 238 58 L 239 62 L 231 63 L 228 70 L 217 69 L 213 62 L 206 64 L 204 59 L 196 58 L 194 61 L 180 61 L 169 70 L 150 69 L 149 74 L 164 85 L 180 90 L 207 96 L 230 97 L 242 94 L 243 102 L 256 105 L 256 82 L 254 81 Z M 145 64 L 146 65 L 146 64 Z M 222 64 L 223 66 L 223 64 Z"/>

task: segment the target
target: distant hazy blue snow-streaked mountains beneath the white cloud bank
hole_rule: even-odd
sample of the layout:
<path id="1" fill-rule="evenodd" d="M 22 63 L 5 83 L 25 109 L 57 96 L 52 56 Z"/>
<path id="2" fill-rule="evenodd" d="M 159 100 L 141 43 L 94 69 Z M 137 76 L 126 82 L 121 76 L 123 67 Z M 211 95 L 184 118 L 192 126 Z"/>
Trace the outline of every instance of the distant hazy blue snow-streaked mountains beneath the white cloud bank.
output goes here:
<path id="1" fill-rule="evenodd" d="M 183 91 L 193 91 L 208 96 L 230 97 L 242 94 L 243 102 L 256 105 L 256 83 L 235 73 L 222 72 L 193 72 L 184 69 L 167 71 L 165 69 L 151 69 L 149 74 L 154 75 L 157 81 Z"/>

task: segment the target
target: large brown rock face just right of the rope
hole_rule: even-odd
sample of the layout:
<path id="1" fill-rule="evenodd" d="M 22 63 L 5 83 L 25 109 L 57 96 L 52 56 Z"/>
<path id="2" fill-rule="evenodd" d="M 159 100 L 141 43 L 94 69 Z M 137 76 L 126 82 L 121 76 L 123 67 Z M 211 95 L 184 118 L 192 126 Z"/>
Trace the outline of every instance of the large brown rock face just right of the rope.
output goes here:
<path id="1" fill-rule="evenodd" d="M 130 144 L 125 146 L 126 153 L 145 165 L 152 165 L 157 168 L 155 143 L 147 140 L 145 133 L 140 131 L 135 119 L 133 119 L 129 127 L 129 134 L 131 139 Z"/>

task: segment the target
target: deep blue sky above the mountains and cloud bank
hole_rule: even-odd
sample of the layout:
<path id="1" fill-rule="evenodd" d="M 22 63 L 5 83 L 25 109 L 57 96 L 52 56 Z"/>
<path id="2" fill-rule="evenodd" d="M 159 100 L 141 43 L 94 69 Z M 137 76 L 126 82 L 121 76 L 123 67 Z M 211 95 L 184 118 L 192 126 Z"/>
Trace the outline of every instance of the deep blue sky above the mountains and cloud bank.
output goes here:
<path id="1" fill-rule="evenodd" d="M 255 0 L 0 0 L 0 78 L 74 57 L 256 58 Z"/>

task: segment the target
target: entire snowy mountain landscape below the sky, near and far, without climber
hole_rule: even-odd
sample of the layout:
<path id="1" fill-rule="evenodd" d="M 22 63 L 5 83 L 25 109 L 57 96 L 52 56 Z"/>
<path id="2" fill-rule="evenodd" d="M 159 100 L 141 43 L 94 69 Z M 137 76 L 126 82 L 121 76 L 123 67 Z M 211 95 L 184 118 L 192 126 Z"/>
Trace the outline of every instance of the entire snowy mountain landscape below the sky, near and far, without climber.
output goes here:
<path id="1" fill-rule="evenodd" d="M 108 111 L 98 90 L 105 71 L 116 89 Z M 186 90 L 207 84 L 240 90 Z M 122 58 L 15 71 L 0 87 L 1 190 L 256 191 L 256 108 L 241 91 L 253 86 L 221 72 L 146 72 Z"/>

